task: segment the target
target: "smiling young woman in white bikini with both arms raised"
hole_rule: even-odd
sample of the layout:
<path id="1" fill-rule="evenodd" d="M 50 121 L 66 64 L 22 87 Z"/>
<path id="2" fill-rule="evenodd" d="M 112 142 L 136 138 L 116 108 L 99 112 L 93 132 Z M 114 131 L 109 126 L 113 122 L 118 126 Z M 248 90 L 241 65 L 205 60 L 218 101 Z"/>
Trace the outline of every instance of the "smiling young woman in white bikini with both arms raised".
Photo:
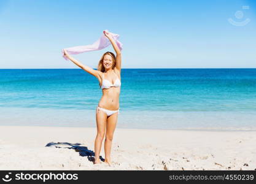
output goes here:
<path id="1" fill-rule="evenodd" d="M 116 56 L 112 52 L 106 52 L 99 60 L 98 70 L 85 66 L 76 59 L 72 58 L 66 50 L 64 56 L 70 59 L 74 64 L 82 68 L 84 71 L 95 76 L 99 80 L 99 85 L 103 90 L 103 96 L 99 101 L 96 109 L 97 135 L 95 139 L 95 164 L 100 163 L 99 153 L 105 133 L 105 163 L 111 165 L 111 146 L 112 139 L 117 125 L 117 116 L 119 113 L 119 94 L 121 87 L 121 52 L 112 39 L 111 34 L 104 32 L 105 36 L 111 41 L 116 52 Z"/>

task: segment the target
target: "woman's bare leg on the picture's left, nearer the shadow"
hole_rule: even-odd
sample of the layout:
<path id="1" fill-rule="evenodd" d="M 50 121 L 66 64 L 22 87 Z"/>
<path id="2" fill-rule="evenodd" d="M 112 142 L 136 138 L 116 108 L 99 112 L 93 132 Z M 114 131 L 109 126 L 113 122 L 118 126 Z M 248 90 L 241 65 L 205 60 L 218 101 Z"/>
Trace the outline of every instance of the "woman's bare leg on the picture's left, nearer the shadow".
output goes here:
<path id="1" fill-rule="evenodd" d="M 96 110 L 97 136 L 95 139 L 95 164 L 100 163 L 99 153 L 106 132 L 107 115 L 101 110 Z"/>

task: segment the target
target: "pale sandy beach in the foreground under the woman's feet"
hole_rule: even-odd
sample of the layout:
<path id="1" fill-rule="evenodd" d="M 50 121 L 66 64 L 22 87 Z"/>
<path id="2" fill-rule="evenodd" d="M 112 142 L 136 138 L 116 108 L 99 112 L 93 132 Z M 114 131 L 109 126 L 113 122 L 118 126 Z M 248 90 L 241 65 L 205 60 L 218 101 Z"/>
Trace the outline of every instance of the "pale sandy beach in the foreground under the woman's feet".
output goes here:
<path id="1" fill-rule="evenodd" d="M 1 170 L 256 169 L 255 131 L 117 128 L 112 166 L 91 161 L 96 128 L 1 126 L 0 134 Z"/>

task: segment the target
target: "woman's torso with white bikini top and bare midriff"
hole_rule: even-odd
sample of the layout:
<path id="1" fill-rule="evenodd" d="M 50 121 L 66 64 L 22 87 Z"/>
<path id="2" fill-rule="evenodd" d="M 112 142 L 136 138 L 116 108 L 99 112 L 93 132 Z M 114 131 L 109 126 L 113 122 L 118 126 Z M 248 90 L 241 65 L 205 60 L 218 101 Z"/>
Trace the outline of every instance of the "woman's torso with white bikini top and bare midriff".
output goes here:
<path id="1" fill-rule="evenodd" d="M 100 81 L 101 86 L 103 85 L 103 80 L 108 80 L 108 82 L 104 81 L 104 83 L 106 84 L 108 83 L 109 85 L 113 85 L 113 86 L 106 86 L 109 88 L 103 89 L 103 96 L 101 97 L 101 100 L 99 101 L 98 106 L 108 110 L 117 110 L 119 108 L 119 96 L 120 96 L 120 86 L 118 86 L 117 84 L 120 83 L 120 74 L 116 74 L 114 72 L 114 74 L 111 74 L 110 76 L 104 73 L 101 76 L 101 81 Z"/>

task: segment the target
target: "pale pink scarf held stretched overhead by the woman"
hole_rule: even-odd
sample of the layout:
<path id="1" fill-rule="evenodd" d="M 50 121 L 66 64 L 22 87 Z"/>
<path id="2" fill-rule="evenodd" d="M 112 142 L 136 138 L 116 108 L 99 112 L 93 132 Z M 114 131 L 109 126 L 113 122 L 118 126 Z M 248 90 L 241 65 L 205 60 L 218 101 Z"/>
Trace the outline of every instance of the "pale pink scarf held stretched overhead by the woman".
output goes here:
<path id="1" fill-rule="evenodd" d="M 104 30 L 104 31 L 107 31 L 107 30 Z M 109 32 L 109 31 L 107 31 L 107 32 Z M 118 48 L 120 50 L 122 50 L 123 44 L 118 41 L 119 35 L 115 34 L 115 33 L 111 33 L 111 32 L 109 32 L 109 34 L 111 34 L 112 38 L 115 40 Z M 69 47 L 69 48 L 65 48 L 65 49 L 70 55 L 77 55 L 79 53 L 89 52 L 89 51 L 93 51 L 93 50 L 101 50 L 103 48 L 106 48 L 109 45 L 111 45 L 111 42 L 103 33 L 103 36 L 101 36 L 98 40 L 96 40 L 96 42 L 94 42 L 92 45 L 82 45 L 82 46 L 77 46 L 77 47 Z M 68 60 L 68 58 L 66 58 L 66 56 L 64 56 L 63 50 L 62 50 L 62 53 L 63 53 L 63 57 L 66 60 Z"/>

